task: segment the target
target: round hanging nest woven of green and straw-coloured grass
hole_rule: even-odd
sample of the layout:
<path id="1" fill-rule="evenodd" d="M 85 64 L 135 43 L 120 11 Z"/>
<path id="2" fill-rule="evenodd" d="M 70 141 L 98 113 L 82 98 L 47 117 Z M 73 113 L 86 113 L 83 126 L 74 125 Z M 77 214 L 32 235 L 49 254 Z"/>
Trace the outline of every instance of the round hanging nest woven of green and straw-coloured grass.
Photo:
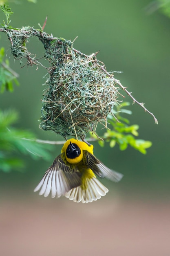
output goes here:
<path id="1" fill-rule="evenodd" d="M 115 79 L 102 70 L 96 54 L 86 56 L 75 51 L 71 41 L 43 43 L 51 67 L 40 128 L 66 138 L 85 137 L 88 131 L 95 131 L 98 123 L 106 126 L 117 99 Z"/>

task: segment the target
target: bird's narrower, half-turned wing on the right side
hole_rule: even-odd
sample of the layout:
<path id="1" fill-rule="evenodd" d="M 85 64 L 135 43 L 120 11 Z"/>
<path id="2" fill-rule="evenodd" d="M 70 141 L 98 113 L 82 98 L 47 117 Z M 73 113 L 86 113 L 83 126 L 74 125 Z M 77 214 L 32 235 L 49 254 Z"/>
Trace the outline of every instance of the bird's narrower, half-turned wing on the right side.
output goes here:
<path id="1" fill-rule="evenodd" d="M 86 165 L 90 168 L 97 176 L 101 178 L 108 178 L 114 182 L 119 182 L 123 177 L 123 174 L 117 173 L 116 171 L 110 170 L 102 162 L 100 162 L 94 155 L 88 151 L 84 151 L 86 155 Z"/>

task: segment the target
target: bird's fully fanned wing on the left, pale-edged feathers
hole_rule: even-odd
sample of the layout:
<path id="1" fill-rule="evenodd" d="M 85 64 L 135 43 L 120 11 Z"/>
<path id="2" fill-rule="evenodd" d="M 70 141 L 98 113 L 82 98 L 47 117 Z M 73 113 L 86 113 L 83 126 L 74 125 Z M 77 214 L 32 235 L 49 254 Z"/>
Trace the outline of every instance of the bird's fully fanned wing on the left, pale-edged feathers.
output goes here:
<path id="1" fill-rule="evenodd" d="M 64 161 L 64 154 L 57 156 L 53 164 L 46 170 L 34 191 L 45 197 L 51 191 L 51 197 L 59 198 L 65 195 L 69 190 L 81 185 L 81 173 L 74 165 L 68 165 Z"/>

